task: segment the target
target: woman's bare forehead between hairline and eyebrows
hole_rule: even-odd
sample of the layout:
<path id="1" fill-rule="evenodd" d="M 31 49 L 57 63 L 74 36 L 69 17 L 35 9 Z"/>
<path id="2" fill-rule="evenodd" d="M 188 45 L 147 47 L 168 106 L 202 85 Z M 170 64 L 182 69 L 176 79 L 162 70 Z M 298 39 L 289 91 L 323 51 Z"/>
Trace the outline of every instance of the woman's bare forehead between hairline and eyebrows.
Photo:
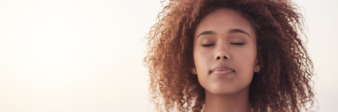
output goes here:
<path id="1" fill-rule="evenodd" d="M 205 16 L 198 24 L 195 38 L 203 31 L 225 32 L 229 29 L 241 29 L 254 33 L 248 20 L 242 14 L 231 9 L 217 9 Z"/>

